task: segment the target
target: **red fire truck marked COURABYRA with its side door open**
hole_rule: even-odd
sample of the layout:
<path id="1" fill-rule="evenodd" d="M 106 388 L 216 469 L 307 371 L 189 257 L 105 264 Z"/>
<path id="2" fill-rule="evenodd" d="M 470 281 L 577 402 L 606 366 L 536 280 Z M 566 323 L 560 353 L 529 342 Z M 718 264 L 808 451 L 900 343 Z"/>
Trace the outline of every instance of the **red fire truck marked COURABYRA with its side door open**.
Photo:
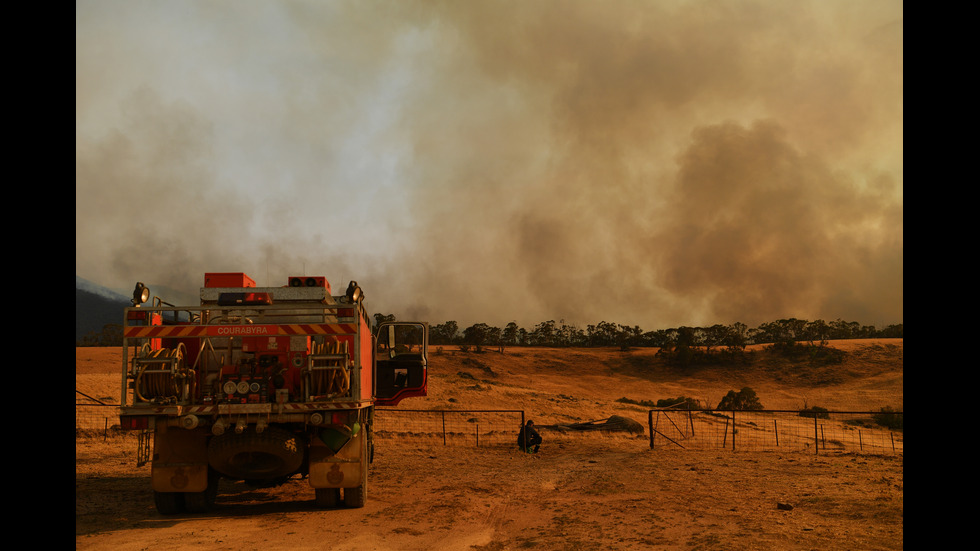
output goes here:
<path id="1" fill-rule="evenodd" d="M 357 282 L 334 296 L 324 277 L 207 273 L 199 305 L 149 298 L 137 283 L 125 309 L 120 424 L 160 513 L 209 510 L 222 477 L 299 475 L 318 506 L 364 506 L 375 407 L 426 395 L 427 324 L 372 333 Z"/>

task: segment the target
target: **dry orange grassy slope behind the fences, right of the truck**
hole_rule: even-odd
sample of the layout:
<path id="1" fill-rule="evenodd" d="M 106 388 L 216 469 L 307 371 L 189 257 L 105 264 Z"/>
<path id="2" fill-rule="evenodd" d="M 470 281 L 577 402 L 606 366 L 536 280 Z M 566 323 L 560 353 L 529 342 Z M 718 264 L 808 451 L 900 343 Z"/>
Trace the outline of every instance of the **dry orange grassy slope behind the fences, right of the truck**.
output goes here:
<path id="1" fill-rule="evenodd" d="M 746 363 L 689 368 L 667 365 L 656 348 L 514 346 L 504 353 L 477 353 L 430 346 L 428 395 L 402 405 L 423 410 L 526 409 L 539 424 L 612 414 L 644 421 L 649 408 L 637 405 L 643 400 L 688 397 L 713 408 L 728 391 L 750 387 L 767 409 L 902 409 L 903 339 L 839 340 L 827 346 L 843 353 L 840 363 L 790 360 L 767 345 L 751 345 Z"/>

